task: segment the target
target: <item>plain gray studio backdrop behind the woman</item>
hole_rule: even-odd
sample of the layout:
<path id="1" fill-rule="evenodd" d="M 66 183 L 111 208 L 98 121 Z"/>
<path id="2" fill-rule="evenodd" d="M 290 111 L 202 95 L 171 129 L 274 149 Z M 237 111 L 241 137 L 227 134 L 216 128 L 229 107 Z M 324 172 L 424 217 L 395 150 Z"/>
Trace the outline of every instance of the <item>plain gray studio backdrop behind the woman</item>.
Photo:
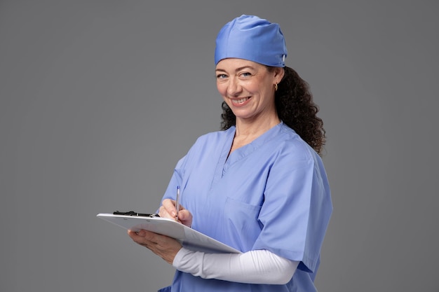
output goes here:
<path id="1" fill-rule="evenodd" d="M 154 211 L 219 129 L 215 36 L 241 14 L 280 23 L 325 122 L 319 291 L 439 291 L 439 5 L 414 3 L 1 0 L 0 291 L 170 284 L 95 215 Z"/>

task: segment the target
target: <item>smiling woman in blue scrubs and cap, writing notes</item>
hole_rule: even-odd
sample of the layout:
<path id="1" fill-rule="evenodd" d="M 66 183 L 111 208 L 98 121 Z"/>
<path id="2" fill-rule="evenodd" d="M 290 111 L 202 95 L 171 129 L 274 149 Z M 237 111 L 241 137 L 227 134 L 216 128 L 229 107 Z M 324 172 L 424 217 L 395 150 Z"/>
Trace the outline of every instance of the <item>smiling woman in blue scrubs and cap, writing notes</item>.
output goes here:
<path id="1" fill-rule="evenodd" d="M 177 163 L 159 214 L 242 253 L 191 251 L 169 237 L 128 231 L 177 269 L 161 291 L 316 291 L 332 212 L 318 155 L 325 131 L 286 55 L 276 23 L 241 15 L 220 30 L 222 131 L 199 137 Z M 184 206 L 178 214 L 176 186 Z"/>

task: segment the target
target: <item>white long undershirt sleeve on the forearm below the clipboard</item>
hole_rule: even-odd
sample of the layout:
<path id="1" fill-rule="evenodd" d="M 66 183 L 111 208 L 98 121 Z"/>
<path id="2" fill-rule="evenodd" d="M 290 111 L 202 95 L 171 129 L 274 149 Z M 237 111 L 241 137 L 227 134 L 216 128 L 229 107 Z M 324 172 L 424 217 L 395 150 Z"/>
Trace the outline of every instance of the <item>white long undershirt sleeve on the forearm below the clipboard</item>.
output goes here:
<path id="1" fill-rule="evenodd" d="M 177 270 L 194 276 L 249 284 L 286 284 L 297 265 L 298 261 L 263 249 L 245 253 L 203 253 L 183 247 L 173 261 Z"/>

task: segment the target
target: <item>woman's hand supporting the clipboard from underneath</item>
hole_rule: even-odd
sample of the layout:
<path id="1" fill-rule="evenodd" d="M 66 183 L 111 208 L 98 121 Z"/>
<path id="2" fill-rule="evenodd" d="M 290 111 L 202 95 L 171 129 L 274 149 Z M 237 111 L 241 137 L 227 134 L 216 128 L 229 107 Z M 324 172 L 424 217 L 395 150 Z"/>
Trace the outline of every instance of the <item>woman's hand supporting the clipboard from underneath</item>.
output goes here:
<path id="1" fill-rule="evenodd" d="M 182 248 L 182 244 L 177 242 L 177 240 L 147 230 L 140 230 L 138 232 L 128 230 L 128 235 L 134 242 L 150 249 L 171 265 L 173 264 L 175 255 L 177 255 L 177 252 Z"/>

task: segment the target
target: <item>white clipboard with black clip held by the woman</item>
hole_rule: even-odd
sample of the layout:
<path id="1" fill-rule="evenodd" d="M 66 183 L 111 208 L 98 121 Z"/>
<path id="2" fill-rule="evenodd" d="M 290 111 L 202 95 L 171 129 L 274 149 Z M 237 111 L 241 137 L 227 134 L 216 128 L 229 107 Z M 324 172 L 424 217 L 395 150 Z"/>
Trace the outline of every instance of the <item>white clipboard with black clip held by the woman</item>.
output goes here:
<path id="1" fill-rule="evenodd" d="M 97 217 L 127 230 L 138 231 L 144 229 L 173 237 L 177 239 L 182 246 L 194 251 L 203 251 L 206 253 L 241 253 L 241 251 L 219 242 L 217 239 L 204 235 L 170 218 L 106 213 L 97 214 Z"/>

